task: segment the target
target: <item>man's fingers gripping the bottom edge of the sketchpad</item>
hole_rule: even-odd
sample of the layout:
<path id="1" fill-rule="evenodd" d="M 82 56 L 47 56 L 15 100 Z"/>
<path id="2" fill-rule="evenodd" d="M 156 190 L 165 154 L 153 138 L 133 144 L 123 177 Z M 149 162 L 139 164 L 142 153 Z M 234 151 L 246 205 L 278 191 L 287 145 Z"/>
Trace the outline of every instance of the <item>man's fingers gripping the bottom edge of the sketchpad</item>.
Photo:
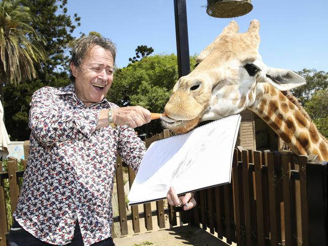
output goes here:
<path id="1" fill-rule="evenodd" d="M 194 199 L 195 193 L 187 193 L 184 196 L 178 197 L 176 189 L 170 187 L 167 194 L 168 203 L 172 206 L 183 206 L 183 210 L 190 210 L 196 206 L 196 200 Z"/>

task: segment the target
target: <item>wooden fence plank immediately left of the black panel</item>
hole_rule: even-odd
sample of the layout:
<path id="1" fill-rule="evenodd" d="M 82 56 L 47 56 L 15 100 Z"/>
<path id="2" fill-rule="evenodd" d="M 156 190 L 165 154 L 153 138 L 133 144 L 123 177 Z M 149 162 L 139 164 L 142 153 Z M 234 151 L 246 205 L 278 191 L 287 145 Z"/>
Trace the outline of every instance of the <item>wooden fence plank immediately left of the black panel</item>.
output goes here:
<path id="1" fill-rule="evenodd" d="M 300 166 L 302 246 L 309 246 L 309 214 L 306 190 L 306 163 L 308 162 L 307 156 L 300 155 L 298 162 Z"/>

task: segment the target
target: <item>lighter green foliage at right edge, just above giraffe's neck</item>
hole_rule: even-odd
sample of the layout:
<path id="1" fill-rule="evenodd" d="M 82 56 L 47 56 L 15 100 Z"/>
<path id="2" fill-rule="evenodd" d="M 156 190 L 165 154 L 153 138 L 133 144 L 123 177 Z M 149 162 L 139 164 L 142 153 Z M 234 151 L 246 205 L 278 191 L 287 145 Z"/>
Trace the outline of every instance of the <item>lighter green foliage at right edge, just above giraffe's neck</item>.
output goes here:
<path id="1" fill-rule="evenodd" d="M 328 137 L 328 89 L 319 90 L 313 93 L 310 100 L 305 103 L 305 110 L 308 112 L 318 131 Z"/>

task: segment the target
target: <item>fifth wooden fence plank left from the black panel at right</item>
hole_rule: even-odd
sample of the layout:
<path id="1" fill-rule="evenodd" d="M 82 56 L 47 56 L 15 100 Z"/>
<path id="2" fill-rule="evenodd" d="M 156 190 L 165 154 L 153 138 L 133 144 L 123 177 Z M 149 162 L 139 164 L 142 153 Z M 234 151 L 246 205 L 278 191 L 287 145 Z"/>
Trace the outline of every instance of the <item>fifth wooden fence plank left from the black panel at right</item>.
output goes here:
<path id="1" fill-rule="evenodd" d="M 250 188 L 250 171 L 249 171 L 249 155 L 247 150 L 242 151 L 243 155 L 243 180 L 244 180 L 244 207 L 245 207 L 245 230 L 246 245 L 251 246 L 252 243 L 252 218 L 251 218 L 251 188 Z"/>

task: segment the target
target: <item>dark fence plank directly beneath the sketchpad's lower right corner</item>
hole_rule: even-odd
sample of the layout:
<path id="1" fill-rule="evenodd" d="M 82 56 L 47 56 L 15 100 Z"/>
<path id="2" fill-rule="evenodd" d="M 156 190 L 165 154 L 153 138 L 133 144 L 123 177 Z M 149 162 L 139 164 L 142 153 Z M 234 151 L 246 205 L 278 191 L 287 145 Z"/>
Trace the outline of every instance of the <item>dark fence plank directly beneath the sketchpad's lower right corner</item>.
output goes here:
<path id="1" fill-rule="evenodd" d="M 233 237 L 234 237 L 234 229 L 232 228 L 232 221 L 234 220 L 234 204 L 233 204 L 233 199 L 232 199 L 232 185 L 226 184 L 224 186 L 224 204 L 225 204 L 225 214 L 226 214 L 226 238 L 227 238 L 227 243 L 232 244 Z"/>

